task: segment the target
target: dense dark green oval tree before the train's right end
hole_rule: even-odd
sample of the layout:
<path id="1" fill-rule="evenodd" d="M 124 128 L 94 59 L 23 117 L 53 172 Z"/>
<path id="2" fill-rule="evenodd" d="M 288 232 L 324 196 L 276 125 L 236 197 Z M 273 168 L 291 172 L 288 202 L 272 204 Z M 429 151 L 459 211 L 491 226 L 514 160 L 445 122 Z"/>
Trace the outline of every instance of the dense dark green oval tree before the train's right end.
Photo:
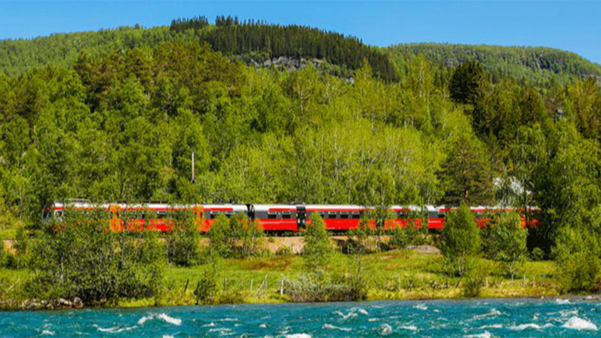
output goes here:
<path id="1" fill-rule="evenodd" d="M 465 203 L 447 214 L 441 236 L 441 251 L 447 267 L 451 273 L 462 276 L 469 268 L 471 257 L 480 250 L 480 231 Z"/>

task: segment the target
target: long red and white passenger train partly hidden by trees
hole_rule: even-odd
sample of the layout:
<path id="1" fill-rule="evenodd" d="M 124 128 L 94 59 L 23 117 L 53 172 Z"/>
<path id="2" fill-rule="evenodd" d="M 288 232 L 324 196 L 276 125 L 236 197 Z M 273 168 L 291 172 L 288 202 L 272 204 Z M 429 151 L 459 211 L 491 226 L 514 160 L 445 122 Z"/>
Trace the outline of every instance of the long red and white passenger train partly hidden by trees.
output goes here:
<path id="1" fill-rule="evenodd" d="M 407 224 L 415 224 L 423 227 L 424 223 L 428 229 L 442 229 L 445 223 L 445 214 L 453 208 L 435 206 L 391 206 L 389 213 L 394 215 L 385 223 L 384 230 L 404 227 Z M 516 209 L 502 207 L 479 206 L 472 207 L 478 226 L 486 226 L 493 212 L 514 212 Z M 328 205 L 328 204 L 194 204 L 194 205 L 172 205 L 166 203 L 147 204 L 93 204 L 85 200 L 69 200 L 55 202 L 53 207 L 44 210 L 44 218 L 62 218 L 66 210 L 79 210 L 91 212 L 93 210 L 104 210 L 108 212 L 109 226 L 112 231 L 121 230 L 144 230 L 156 229 L 170 231 L 173 220 L 170 218 L 172 212 L 192 212 L 194 222 L 198 225 L 200 232 L 209 231 L 211 224 L 219 214 L 231 215 L 244 214 L 249 220 L 259 220 L 263 230 L 266 232 L 299 232 L 307 228 L 313 212 L 319 212 L 326 224 L 326 229 L 332 231 L 346 231 L 355 229 L 359 225 L 359 219 L 370 207 L 358 205 Z M 536 208 L 527 210 L 522 214 L 522 226 L 535 226 L 537 220 L 525 217 Z M 370 220 L 370 227 L 375 227 L 374 220 Z"/>

